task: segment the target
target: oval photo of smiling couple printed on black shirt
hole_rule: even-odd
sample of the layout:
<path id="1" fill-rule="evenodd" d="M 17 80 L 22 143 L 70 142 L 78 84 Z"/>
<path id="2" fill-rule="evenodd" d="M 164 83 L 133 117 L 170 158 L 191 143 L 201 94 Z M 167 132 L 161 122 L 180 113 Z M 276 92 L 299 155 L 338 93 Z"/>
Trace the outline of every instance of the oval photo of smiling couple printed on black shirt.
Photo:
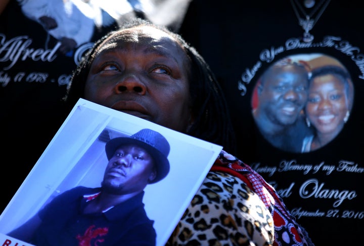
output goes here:
<path id="1" fill-rule="evenodd" d="M 305 153 L 330 143 L 353 104 L 350 73 L 326 54 L 287 56 L 256 81 L 252 114 L 262 136 L 283 151 Z"/>

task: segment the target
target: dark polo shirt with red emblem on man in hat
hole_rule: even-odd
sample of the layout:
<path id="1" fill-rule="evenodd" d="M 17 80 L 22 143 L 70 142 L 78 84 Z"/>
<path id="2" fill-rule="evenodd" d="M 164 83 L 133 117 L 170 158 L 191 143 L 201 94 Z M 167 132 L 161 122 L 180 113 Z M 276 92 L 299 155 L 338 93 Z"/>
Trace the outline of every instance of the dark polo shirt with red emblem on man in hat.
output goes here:
<path id="1" fill-rule="evenodd" d="M 144 192 L 102 213 L 83 214 L 87 199 L 100 188 L 78 186 L 55 197 L 40 210 L 41 225 L 31 241 L 34 245 L 155 245 L 154 221 L 144 209 Z M 143 233 L 141 233 L 143 231 Z M 92 232 L 92 233 L 90 233 Z"/>

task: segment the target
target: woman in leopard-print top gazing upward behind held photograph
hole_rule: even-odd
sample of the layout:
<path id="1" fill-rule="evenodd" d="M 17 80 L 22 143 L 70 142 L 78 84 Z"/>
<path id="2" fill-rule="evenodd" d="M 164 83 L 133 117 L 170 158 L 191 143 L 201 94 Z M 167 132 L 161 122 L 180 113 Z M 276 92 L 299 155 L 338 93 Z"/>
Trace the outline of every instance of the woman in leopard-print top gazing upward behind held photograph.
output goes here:
<path id="1" fill-rule="evenodd" d="M 80 97 L 224 146 L 168 245 L 309 244 L 274 188 L 226 152 L 235 141 L 222 91 L 181 36 L 125 23 L 83 57 L 66 100 Z"/>

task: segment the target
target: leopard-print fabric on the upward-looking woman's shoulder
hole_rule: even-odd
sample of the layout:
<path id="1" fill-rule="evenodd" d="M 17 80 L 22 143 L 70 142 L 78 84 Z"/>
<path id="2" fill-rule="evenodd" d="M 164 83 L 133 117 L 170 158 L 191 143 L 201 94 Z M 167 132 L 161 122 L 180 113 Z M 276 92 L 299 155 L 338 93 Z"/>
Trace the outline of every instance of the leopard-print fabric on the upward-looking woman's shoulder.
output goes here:
<path id="1" fill-rule="evenodd" d="M 166 245 L 272 245 L 274 224 L 242 180 L 209 172 Z"/>

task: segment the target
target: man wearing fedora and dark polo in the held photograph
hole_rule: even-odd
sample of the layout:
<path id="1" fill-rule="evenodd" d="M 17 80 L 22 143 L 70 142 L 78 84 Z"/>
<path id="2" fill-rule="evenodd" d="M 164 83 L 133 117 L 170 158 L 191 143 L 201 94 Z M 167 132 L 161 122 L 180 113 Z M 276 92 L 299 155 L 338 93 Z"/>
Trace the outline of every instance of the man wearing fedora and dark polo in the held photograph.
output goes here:
<path id="1" fill-rule="evenodd" d="M 37 246 L 155 245 L 144 188 L 169 173 L 169 150 L 168 141 L 150 129 L 109 140 L 101 187 L 60 194 L 8 235 Z"/>

